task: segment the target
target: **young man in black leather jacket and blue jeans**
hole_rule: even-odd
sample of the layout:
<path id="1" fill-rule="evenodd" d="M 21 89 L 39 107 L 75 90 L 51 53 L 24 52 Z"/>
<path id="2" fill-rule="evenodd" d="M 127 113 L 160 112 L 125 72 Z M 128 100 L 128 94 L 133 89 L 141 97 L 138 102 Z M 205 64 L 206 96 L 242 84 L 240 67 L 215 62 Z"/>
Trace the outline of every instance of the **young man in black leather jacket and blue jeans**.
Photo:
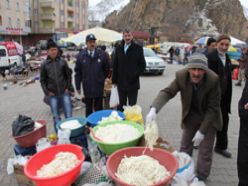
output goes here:
<path id="1" fill-rule="evenodd" d="M 48 57 L 41 65 L 40 83 L 51 107 L 54 129 L 57 131 L 56 126 L 61 120 L 60 107 L 63 108 L 65 118 L 72 117 L 72 70 L 61 58 L 58 46 L 51 39 L 47 42 L 47 53 Z"/>

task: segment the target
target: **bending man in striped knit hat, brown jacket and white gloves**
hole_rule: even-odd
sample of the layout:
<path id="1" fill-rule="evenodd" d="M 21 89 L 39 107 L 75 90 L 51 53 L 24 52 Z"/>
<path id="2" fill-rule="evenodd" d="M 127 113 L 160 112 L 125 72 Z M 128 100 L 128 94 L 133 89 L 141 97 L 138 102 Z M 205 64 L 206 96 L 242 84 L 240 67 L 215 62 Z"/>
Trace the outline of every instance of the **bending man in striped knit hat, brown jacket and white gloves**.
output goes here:
<path id="1" fill-rule="evenodd" d="M 208 69 L 205 55 L 193 54 L 188 66 L 176 72 L 172 83 L 153 101 L 146 125 L 156 119 L 161 108 L 178 92 L 183 129 L 180 151 L 192 156 L 193 145 L 199 147 L 196 174 L 199 180 L 205 181 L 210 174 L 215 134 L 222 128 L 219 80 Z"/>

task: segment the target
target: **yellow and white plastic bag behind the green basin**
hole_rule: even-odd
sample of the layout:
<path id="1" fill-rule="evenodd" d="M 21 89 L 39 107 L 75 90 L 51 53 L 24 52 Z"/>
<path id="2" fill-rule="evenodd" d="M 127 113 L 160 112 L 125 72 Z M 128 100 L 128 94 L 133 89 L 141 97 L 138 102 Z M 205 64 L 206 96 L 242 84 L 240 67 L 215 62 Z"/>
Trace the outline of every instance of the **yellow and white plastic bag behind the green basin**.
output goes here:
<path id="1" fill-rule="evenodd" d="M 124 114 L 126 120 L 134 121 L 139 124 L 144 124 L 142 109 L 139 105 L 124 106 Z"/>

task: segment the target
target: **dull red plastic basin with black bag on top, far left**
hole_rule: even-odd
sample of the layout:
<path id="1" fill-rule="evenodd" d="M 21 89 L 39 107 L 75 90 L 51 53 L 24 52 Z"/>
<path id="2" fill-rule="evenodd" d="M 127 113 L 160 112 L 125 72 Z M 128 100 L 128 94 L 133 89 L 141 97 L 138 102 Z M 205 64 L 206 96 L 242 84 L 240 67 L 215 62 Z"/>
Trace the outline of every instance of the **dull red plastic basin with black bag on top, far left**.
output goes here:
<path id="1" fill-rule="evenodd" d="M 19 144 L 21 147 L 32 147 L 38 142 L 40 138 L 46 136 L 46 120 L 37 120 L 36 122 L 42 124 L 42 127 L 38 128 L 37 130 L 33 130 L 22 136 L 13 136 L 16 143 Z"/>

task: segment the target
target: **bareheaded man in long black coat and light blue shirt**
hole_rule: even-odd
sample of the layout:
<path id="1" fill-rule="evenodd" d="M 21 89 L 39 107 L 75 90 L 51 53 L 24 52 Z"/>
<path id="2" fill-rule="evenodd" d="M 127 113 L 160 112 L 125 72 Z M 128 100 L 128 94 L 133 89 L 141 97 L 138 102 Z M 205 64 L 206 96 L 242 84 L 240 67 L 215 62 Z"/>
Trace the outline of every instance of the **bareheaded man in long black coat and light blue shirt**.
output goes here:
<path id="1" fill-rule="evenodd" d="M 143 48 L 133 41 L 129 30 L 123 31 L 123 41 L 115 50 L 113 60 L 113 86 L 117 86 L 119 93 L 118 110 L 123 106 L 133 106 L 137 102 L 140 88 L 139 76 L 146 67 Z"/>

